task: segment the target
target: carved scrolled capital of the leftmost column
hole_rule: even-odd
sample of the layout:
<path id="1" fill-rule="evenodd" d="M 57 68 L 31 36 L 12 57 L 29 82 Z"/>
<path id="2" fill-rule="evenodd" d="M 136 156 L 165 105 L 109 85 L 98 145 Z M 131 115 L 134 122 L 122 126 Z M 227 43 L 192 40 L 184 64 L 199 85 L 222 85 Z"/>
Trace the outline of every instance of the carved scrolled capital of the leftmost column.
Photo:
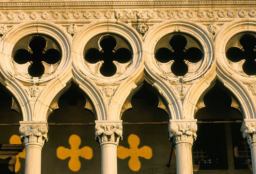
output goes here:
<path id="1" fill-rule="evenodd" d="M 48 141 L 48 124 L 47 122 L 20 121 L 19 133 L 25 146 L 39 145 L 43 147 L 44 142 Z"/>

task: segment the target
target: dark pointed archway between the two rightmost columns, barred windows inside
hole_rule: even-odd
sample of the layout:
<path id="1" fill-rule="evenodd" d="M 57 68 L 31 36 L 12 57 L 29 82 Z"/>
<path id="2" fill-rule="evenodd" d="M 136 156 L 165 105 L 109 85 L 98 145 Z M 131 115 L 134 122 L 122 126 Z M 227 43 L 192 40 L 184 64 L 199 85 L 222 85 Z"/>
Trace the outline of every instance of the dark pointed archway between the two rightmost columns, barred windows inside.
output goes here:
<path id="1" fill-rule="evenodd" d="M 205 94 L 205 107 L 197 111 L 195 119 L 242 120 L 241 112 L 231 107 L 231 103 L 230 91 L 216 81 L 215 86 Z M 197 139 L 192 147 L 193 169 L 250 169 L 250 148 L 240 129 L 241 123 L 198 124 Z"/>

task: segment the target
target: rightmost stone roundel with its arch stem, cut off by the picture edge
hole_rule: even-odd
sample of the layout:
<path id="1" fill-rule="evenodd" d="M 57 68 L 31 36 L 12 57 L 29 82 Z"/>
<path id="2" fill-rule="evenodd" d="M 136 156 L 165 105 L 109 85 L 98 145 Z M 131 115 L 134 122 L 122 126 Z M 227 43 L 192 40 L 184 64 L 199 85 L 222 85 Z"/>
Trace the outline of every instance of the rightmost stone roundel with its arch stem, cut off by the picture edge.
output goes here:
<path id="1" fill-rule="evenodd" d="M 253 50 L 253 47 L 256 46 L 253 41 L 255 33 L 255 19 L 238 19 L 223 25 L 215 38 L 216 43 L 221 43 L 216 44 L 217 73 L 223 81 L 226 81 L 225 86 L 234 93 L 241 103 L 244 118 L 247 119 L 255 118 L 254 86 L 256 78 L 254 73 L 247 72 L 244 66 L 247 66 L 246 59 L 247 61 L 253 59 L 251 57 L 253 55 L 248 54 L 248 51 L 255 52 Z M 246 45 L 244 45 L 243 39 L 247 40 Z M 234 49 L 233 52 L 238 51 L 236 54 L 242 59 L 234 60 L 235 55 L 228 52 L 230 48 Z M 255 62 L 250 64 L 253 66 Z"/>

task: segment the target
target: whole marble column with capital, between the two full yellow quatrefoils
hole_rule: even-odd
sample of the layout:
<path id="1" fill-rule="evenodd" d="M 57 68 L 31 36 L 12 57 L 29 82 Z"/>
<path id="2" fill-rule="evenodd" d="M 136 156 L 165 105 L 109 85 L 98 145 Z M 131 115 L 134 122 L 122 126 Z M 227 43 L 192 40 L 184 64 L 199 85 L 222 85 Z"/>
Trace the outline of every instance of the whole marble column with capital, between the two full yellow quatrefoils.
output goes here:
<path id="1" fill-rule="evenodd" d="M 116 150 L 122 134 L 122 120 L 95 121 L 95 138 L 101 147 L 102 174 L 117 174 Z"/>

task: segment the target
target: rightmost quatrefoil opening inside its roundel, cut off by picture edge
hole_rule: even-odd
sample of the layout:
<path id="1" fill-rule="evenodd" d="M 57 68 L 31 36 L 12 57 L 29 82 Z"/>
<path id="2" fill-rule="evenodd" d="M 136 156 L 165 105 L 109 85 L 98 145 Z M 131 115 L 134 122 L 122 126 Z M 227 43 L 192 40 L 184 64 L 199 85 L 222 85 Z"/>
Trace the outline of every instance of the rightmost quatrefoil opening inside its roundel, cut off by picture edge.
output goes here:
<path id="1" fill-rule="evenodd" d="M 236 71 L 256 75 L 255 35 L 240 33 L 233 36 L 226 45 L 226 57 Z"/>

